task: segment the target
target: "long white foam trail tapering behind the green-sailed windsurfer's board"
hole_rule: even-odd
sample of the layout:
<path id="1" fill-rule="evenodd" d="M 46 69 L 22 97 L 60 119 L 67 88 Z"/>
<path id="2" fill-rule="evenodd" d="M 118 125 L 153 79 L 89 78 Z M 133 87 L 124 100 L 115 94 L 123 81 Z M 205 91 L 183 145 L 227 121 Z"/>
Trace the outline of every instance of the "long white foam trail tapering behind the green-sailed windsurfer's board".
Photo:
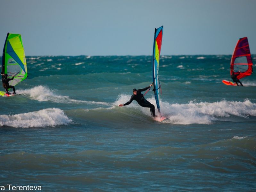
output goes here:
<path id="1" fill-rule="evenodd" d="M 29 96 L 33 100 L 38 101 L 52 101 L 54 103 L 88 103 L 88 104 L 98 104 L 98 105 L 112 105 L 106 102 L 96 102 L 96 101 L 85 101 L 85 100 L 75 100 L 68 96 L 57 95 L 53 90 L 39 85 L 31 89 L 17 90 L 18 94 Z"/>

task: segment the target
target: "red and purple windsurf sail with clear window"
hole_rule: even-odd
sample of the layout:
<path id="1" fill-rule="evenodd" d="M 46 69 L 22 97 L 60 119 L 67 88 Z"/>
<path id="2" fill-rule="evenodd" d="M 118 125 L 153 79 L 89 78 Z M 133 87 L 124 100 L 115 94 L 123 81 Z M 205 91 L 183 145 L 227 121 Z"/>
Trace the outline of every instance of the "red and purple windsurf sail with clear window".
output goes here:
<path id="1" fill-rule="evenodd" d="M 252 75 L 252 56 L 247 37 L 238 40 L 230 63 L 230 75 L 234 70 L 237 79 Z"/>

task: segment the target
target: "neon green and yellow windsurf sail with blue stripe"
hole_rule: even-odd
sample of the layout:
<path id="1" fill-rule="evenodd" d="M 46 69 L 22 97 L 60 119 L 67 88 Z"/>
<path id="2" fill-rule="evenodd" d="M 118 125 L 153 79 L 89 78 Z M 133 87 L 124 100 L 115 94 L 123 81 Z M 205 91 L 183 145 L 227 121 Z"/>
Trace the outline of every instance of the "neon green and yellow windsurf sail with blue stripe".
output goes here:
<path id="1" fill-rule="evenodd" d="M 22 44 L 21 34 L 8 33 L 4 43 L 2 57 L 2 73 L 8 78 L 14 75 L 9 85 L 15 86 L 28 76 L 27 62 Z"/>

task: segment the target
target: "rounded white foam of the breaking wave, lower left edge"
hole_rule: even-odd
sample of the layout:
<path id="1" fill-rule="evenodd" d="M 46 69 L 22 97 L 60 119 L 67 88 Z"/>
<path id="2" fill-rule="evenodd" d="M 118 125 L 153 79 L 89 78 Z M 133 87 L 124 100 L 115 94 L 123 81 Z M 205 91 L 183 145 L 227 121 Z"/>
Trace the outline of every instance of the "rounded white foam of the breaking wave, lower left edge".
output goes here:
<path id="1" fill-rule="evenodd" d="M 68 125 L 69 119 L 59 108 L 47 108 L 17 115 L 0 115 L 0 126 L 10 127 L 46 127 Z"/>

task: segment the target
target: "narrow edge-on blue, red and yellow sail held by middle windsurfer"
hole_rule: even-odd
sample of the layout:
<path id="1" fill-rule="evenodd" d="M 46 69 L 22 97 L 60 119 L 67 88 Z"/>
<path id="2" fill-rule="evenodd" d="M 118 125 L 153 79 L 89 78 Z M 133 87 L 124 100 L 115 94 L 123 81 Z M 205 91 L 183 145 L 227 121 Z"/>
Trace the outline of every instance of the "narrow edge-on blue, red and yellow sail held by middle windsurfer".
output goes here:
<path id="1" fill-rule="evenodd" d="M 154 93 L 155 100 L 158 112 L 160 113 L 160 103 L 159 103 L 159 93 L 161 89 L 161 85 L 158 79 L 158 69 L 159 69 L 159 59 L 160 59 L 160 51 L 162 45 L 162 36 L 163 36 L 163 26 L 160 28 L 155 28 L 155 36 L 154 36 L 154 45 L 153 45 L 153 85 L 154 85 Z"/>

